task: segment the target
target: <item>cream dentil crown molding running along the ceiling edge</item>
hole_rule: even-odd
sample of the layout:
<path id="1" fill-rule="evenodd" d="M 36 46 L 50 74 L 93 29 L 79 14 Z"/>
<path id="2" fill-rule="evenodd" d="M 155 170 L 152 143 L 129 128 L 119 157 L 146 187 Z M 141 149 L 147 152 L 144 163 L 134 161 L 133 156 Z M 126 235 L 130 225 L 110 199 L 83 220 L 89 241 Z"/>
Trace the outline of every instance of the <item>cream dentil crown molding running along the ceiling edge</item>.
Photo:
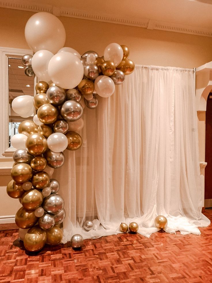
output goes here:
<path id="1" fill-rule="evenodd" d="M 51 5 L 43 5 L 42 3 L 31 4 L 31 3 L 27 3 L 27 2 L 23 3 L 23 2 L 24 1 L 16 1 L 16 0 L 0 1 L 0 7 L 23 10 L 23 11 L 31 11 L 31 12 L 49 12 L 54 14 L 55 16 L 80 18 L 80 19 L 94 20 L 94 21 L 113 23 L 119 25 L 143 27 L 152 30 L 157 29 L 163 31 L 172 31 L 178 33 L 187 33 L 192 35 L 212 37 L 212 29 L 209 30 L 200 27 L 185 26 L 176 23 L 167 23 L 153 19 L 132 20 L 130 18 L 126 19 L 126 18 L 111 17 L 109 15 L 90 14 L 80 10 L 74 11 L 64 7 L 58 8 Z"/>

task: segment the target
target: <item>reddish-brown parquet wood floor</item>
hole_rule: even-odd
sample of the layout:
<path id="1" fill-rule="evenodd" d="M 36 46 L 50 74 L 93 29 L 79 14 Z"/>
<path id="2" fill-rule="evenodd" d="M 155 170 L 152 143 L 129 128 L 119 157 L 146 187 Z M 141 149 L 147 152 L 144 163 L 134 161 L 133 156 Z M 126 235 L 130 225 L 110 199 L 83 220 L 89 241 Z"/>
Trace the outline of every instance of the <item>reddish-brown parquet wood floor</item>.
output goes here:
<path id="1" fill-rule="evenodd" d="M 204 213 L 212 220 L 212 210 Z M 212 282 L 212 224 L 201 235 L 119 234 L 27 252 L 18 230 L 0 231 L 0 282 Z"/>

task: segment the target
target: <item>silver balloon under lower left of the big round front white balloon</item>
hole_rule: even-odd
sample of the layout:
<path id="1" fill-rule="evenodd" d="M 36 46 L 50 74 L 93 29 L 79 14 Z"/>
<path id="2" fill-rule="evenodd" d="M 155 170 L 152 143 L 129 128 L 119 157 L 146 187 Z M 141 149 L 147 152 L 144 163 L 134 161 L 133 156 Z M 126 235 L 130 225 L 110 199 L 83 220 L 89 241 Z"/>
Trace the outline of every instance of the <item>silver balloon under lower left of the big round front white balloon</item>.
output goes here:
<path id="1" fill-rule="evenodd" d="M 62 105 L 63 102 L 65 102 L 66 94 L 62 87 L 53 85 L 47 90 L 46 98 L 52 105 L 59 106 Z"/>

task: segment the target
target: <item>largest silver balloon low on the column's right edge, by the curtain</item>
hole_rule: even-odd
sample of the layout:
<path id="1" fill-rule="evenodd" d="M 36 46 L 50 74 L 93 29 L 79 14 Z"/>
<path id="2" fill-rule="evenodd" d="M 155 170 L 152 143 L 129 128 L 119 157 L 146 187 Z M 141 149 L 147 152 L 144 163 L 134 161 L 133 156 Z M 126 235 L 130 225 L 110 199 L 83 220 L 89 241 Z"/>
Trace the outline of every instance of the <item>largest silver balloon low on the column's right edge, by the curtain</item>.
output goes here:
<path id="1" fill-rule="evenodd" d="M 59 194 L 50 194 L 50 196 L 43 199 L 41 206 L 49 213 L 58 213 L 64 207 L 64 200 Z"/>

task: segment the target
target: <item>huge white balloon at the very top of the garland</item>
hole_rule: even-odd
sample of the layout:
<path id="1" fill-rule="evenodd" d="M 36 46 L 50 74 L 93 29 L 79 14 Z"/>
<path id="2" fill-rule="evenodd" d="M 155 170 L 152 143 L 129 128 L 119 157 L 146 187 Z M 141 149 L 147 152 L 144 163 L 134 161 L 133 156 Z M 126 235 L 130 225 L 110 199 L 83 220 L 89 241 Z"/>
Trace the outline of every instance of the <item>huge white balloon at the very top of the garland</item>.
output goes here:
<path id="1" fill-rule="evenodd" d="M 55 54 L 65 44 L 65 28 L 56 16 L 39 12 L 27 21 L 25 38 L 34 52 L 45 49 Z"/>

